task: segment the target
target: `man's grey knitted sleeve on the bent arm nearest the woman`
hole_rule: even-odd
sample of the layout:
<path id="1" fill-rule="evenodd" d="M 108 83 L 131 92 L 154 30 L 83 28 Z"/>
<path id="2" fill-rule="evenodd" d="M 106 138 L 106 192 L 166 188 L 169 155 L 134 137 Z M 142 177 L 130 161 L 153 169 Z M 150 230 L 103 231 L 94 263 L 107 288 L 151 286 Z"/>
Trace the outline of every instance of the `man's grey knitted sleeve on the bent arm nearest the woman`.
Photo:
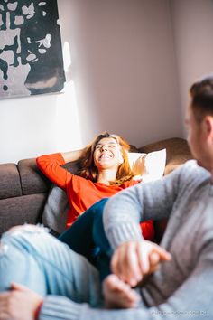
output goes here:
<path id="1" fill-rule="evenodd" d="M 171 214 L 182 168 L 150 183 L 136 184 L 111 197 L 103 223 L 112 249 L 128 240 L 141 240 L 140 222 L 162 220 Z"/>

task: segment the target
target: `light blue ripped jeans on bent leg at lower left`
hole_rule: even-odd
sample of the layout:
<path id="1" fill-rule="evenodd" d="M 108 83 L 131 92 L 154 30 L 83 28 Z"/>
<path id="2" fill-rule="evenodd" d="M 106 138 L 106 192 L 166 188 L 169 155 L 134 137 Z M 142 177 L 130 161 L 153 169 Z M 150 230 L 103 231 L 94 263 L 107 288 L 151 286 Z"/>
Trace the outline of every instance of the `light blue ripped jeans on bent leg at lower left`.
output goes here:
<path id="1" fill-rule="evenodd" d="M 42 227 L 7 231 L 0 242 L 0 291 L 11 282 L 41 296 L 67 296 L 75 302 L 101 306 L 99 274 L 88 259 L 69 249 Z"/>

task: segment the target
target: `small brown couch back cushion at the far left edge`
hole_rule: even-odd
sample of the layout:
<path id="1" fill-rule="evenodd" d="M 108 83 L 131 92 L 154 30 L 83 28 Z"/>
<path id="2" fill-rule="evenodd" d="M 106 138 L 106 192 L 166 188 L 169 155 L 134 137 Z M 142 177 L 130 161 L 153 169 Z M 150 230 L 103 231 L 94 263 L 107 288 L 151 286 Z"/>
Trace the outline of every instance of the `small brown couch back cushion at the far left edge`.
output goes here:
<path id="1" fill-rule="evenodd" d="M 13 198 L 22 194 L 20 176 L 14 164 L 0 165 L 0 199 Z"/>

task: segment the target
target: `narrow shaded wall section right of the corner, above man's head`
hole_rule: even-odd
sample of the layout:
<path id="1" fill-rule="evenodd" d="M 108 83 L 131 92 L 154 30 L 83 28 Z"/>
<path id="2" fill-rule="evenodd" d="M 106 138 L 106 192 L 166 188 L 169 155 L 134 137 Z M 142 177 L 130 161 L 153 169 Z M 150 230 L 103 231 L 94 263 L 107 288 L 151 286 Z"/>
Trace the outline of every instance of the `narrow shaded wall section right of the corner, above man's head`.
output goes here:
<path id="1" fill-rule="evenodd" d="M 171 18 L 183 119 L 191 84 L 213 72 L 213 1 L 171 0 Z"/>

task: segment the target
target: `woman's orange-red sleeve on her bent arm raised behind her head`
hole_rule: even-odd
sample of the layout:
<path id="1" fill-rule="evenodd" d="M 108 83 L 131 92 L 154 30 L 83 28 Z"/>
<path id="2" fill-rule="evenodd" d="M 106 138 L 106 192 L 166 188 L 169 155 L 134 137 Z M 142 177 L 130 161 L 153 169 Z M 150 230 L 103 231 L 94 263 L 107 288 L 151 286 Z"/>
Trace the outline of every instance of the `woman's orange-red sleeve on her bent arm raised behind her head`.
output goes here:
<path id="1" fill-rule="evenodd" d="M 65 164 L 64 158 L 60 153 L 52 155 L 42 155 L 36 159 L 39 169 L 45 174 L 53 184 L 66 189 L 73 174 L 61 167 Z"/>

